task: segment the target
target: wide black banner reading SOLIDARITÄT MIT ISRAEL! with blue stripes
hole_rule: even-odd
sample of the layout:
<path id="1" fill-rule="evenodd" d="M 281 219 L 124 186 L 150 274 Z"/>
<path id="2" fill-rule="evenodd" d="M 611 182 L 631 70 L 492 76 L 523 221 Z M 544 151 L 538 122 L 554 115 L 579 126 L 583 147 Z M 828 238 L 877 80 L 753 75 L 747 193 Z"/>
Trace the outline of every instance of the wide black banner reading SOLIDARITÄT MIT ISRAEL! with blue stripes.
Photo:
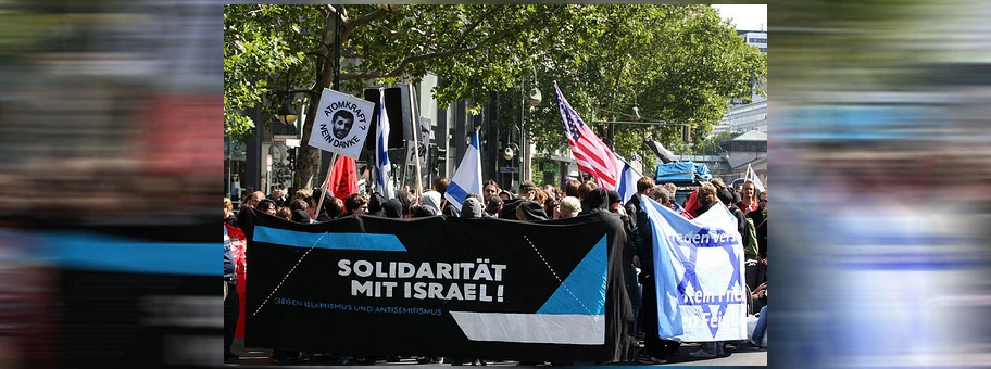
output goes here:
<path id="1" fill-rule="evenodd" d="M 246 344 L 353 355 L 618 361 L 632 313 L 612 214 L 543 222 L 252 211 Z"/>

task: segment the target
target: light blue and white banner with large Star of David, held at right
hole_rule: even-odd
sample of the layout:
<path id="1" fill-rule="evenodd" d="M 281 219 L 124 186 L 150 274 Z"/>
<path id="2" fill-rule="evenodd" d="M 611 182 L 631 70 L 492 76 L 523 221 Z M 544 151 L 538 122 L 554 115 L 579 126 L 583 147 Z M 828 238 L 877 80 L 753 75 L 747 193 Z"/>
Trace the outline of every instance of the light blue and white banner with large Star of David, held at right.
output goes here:
<path id="1" fill-rule="evenodd" d="M 743 245 L 736 217 L 720 205 L 688 220 L 647 196 L 640 204 L 654 237 L 661 339 L 747 339 Z"/>

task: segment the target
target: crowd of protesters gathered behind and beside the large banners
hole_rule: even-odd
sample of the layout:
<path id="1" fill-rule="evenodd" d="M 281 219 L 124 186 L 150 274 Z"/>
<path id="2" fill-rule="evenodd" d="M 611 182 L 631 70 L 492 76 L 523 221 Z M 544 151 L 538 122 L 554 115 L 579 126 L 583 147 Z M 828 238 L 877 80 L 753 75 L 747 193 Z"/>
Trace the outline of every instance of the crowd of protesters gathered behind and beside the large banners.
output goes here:
<path id="1" fill-rule="evenodd" d="M 530 181 L 523 181 L 518 191 L 501 189 L 494 180 L 487 180 L 482 193 L 468 194 L 459 211 L 444 199 L 443 194 L 450 184 L 447 178 L 437 178 L 432 186 L 424 189 L 416 199 L 409 187 L 396 191 L 396 198 L 385 199 L 380 193 L 363 195 L 352 193 L 343 200 L 325 195 L 322 206 L 321 190 L 283 190 L 273 187 L 266 196 L 261 191 L 246 192 L 241 208 L 235 215 L 233 204 L 224 199 L 224 221 L 233 227 L 244 224 L 247 208 L 285 218 L 289 221 L 313 224 L 337 219 L 349 215 L 369 215 L 388 218 L 418 218 L 435 215 L 448 217 L 479 218 L 494 217 L 500 219 L 540 221 L 580 216 L 593 213 L 616 214 L 623 220 L 628 242 L 624 257 L 629 260 L 625 285 L 629 291 L 630 302 L 635 309 L 634 329 L 637 341 L 642 345 L 637 361 L 639 364 L 661 364 L 669 357 L 680 355 L 681 343 L 660 339 L 657 334 L 657 295 L 653 277 L 652 229 L 642 201 L 655 201 L 687 219 L 705 213 L 713 206 L 726 206 L 737 218 L 738 231 L 743 238 L 745 262 L 745 283 L 751 292 L 754 310 L 760 310 L 760 320 L 751 339 L 741 342 L 706 342 L 701 348 L 689 353 L 697 358 L 713 358 L 726 355 L 727 345 L 735 349 L 761 349 L 761 339 L 766 328 L 767 298 L 767 192 L 758 192 L 755 183 L 745 180 L 739 188 L 727 187 L 722 180 L 713 179 L 701 182 L 698 188 L 679 204 L 675 201 L 678 188 L 674 183 L 657 184 L 650 177 L 640 178 L 637 194 L 630 199 L 620 199 L 616 191 L 606 191 L 594 181 L 569 180 L 562 191 L 555 186 L 539 187 Z M 641 200 L 644 199 L 644 200 Z M 319 208 L 318 208 L 319 207 Z M 235 290 L 227 285 L 234 278 L 230 264 L 229 242 L 225 228 L 225 291 Z M 231 298 L 233 295 L 233 298 Z M 238 297 L 225 294 L 225 360 L 236 360 L 238 356 L 230 352 L 234 330 L 237 322 Z M 233 311 L 233 314 L 228 314 Z M 233 322 L 231 322 L 233 320 Z M 653 327 L 653 329 L 651 329 Z M 296 364 L 302 359 L 302 353 L 274 351 L 273 358 L 279 364 Z M 340 364 L 372 364 L 374 358 L 355 358 L 350 355 L 334 355 Z M 389 357 L 387 361 L 400 358 Z M 421 357 L 421 364 L 441 364 L 440 357 Z M 476 362 L 473 359 L 450 358 L 453 365 Z M 486 365 L 485 360 L 477 362 Z M 538 365 L 540 362 L 520 362 Z"/>

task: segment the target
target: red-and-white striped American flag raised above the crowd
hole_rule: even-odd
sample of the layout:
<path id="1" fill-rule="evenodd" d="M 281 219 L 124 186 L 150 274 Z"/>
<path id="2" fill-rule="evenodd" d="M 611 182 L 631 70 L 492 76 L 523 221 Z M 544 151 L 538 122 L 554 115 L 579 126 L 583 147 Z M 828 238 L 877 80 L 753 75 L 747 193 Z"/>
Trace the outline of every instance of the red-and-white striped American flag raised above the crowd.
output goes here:
<path id="1" fill-rule="evenodd" d="M 557 92 L 557 111 L 561 113 L 564 135 L 567 136 L 572 153 L 575 154 L 578 169 L 595 176 L 599 187 L 615 190 L 618 170 L 613 152 L 589 129 L 578 113 L 575 113 L 572 104 L 568 104 L 561 93 L 557 82 L 554 82 L 554 90 Z"/>

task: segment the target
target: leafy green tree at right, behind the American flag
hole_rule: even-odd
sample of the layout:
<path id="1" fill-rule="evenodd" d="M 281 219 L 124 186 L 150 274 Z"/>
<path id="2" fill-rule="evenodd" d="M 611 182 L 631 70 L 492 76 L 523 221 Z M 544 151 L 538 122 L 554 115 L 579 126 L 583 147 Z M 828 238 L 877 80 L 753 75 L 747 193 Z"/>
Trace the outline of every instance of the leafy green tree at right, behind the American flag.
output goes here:
<path id="1" fill-rule="evenodd" d="M 636 102 L 642 122 L 689 124 L 692 141 L 700 142 L 727 112 L 727 101 L 749 98 L 751 81 L 766 75 L 766 56 L 711 7 L 599 8 L 598 22 L 589 23 L 590 48 L 597 52 L 569 60 L 551 50 L 538 63 L 548 66 L 538 68 L 544 75 L 540 89 L 552 92 L 557 80 L 586 123 L 628 120 L 623 114 Z M 538 148 L 566 145 L 556 107 L 541 104 L 526 126 Z M 592 126 L 606 138 L 607 127 Z M 639 152 L 645 165 L 653 165 L 643 139 L 680 149 L 681 127 L 616 125 L 614 151 L 625 157 Z"/>

